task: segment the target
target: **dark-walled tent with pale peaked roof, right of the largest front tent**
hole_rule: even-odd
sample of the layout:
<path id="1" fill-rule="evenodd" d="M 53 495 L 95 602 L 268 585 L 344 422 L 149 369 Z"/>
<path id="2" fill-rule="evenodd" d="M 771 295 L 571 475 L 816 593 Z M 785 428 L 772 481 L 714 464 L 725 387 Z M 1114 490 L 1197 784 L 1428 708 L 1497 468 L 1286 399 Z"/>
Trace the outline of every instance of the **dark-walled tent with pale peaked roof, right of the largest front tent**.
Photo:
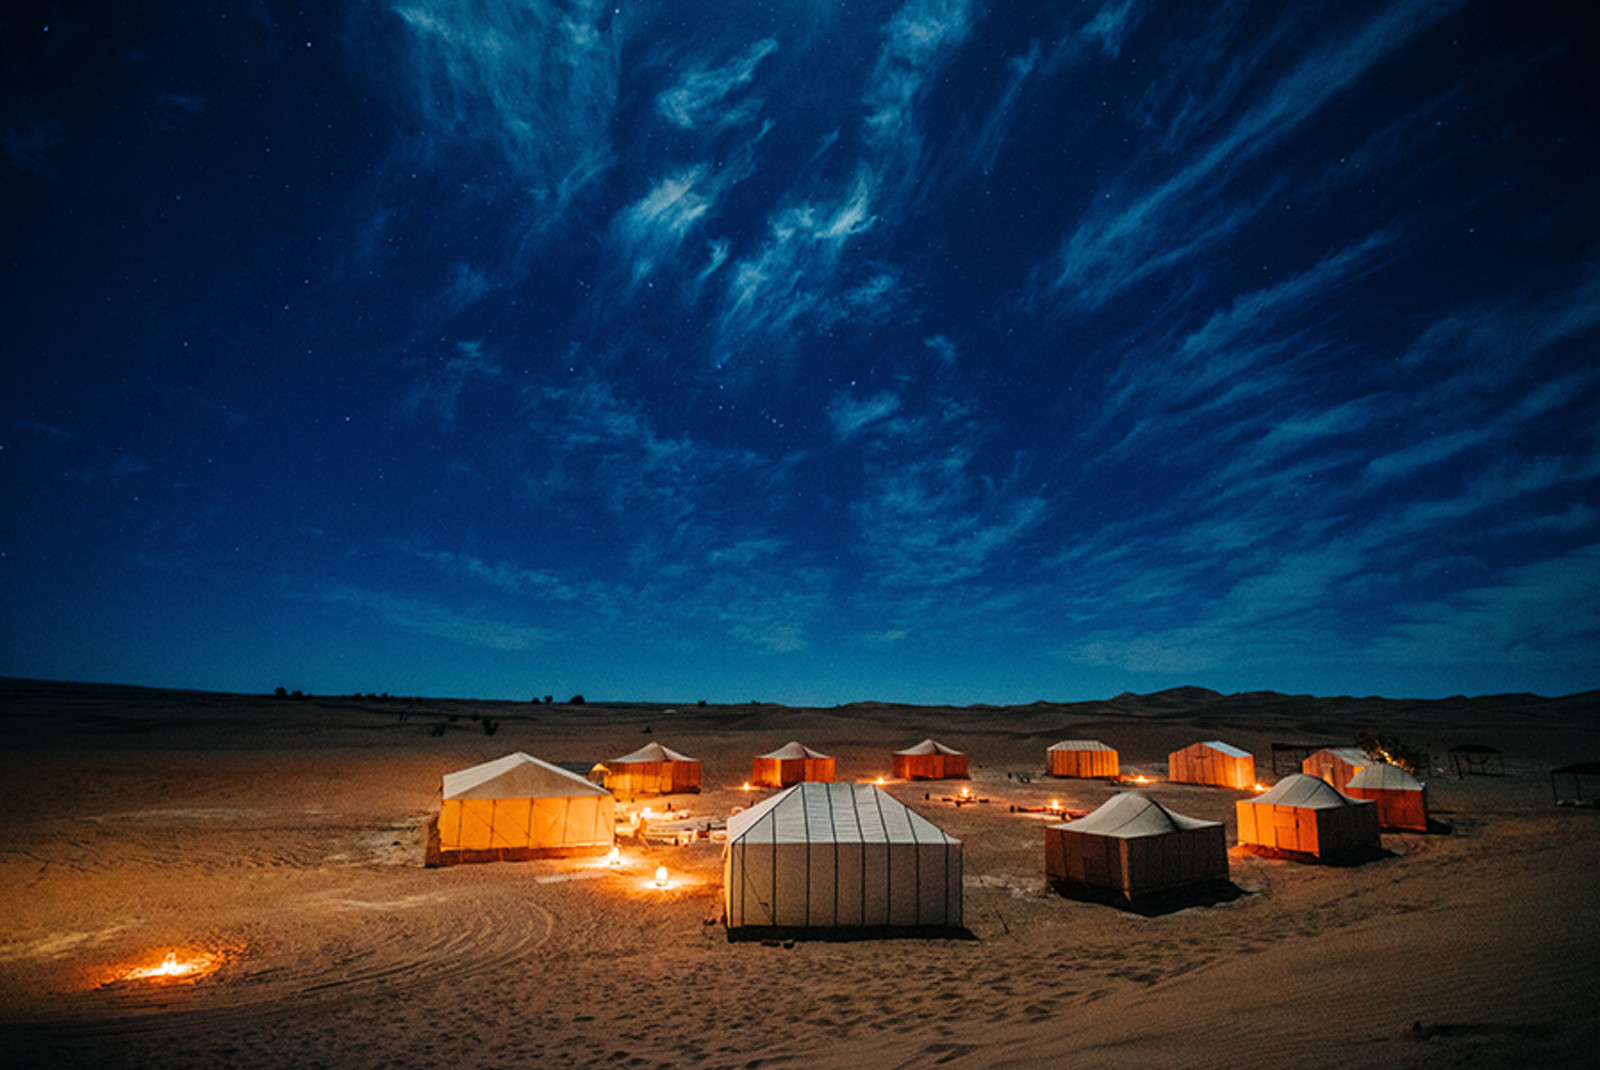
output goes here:
<path id="1" fill-rule="evenodd" d="M 1219 820 L 1174 814 L 1139 792 L 1118 792 L 1099 809 L 1045 828 L 1045 875 L 1056 884 L 1126 899 L 1227 880 L 1227 835 Z"/>

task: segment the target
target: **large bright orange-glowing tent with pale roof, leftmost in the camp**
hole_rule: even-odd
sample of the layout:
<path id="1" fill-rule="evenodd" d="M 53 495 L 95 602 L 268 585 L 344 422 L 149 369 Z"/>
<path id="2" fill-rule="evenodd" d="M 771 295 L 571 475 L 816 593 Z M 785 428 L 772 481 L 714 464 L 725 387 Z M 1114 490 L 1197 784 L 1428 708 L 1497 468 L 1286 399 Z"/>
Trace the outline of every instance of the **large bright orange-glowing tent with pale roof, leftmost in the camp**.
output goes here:
<path id="1" fill-rule="evenodd" d="M 616 840 L 610 792 L 520 752 L 446 773 L 442 795 L 435 864 L 598 854 Z"/>

